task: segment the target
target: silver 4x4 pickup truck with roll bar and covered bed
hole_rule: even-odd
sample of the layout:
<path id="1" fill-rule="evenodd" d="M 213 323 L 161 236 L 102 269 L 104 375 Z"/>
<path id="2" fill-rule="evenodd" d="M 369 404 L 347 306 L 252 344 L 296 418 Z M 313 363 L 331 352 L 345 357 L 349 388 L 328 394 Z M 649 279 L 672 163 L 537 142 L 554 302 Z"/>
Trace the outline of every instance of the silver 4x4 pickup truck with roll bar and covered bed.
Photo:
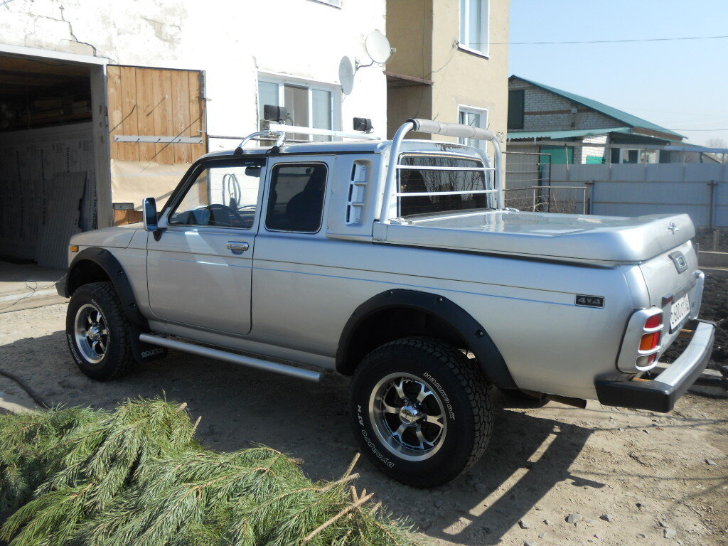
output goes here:
<path id="1" fill-rule="evenodd" d="M 488 143 L 494 160 L 413 130 Z M 483 454 L 491 387 L 665 412 L 703 371 L 714 325 L 697 318 L 687 215 L 507 209 L 499 143 L 466 125 L 411 119 L 392 141 L 285 131 L 301 128 L 201 157 L 161 211 L 145 200 L 143 225 L 72 238 L 58 290 L 83 373 L 114 379 L 168 348 L 337 371 L 373 464 L 430 487 Z M 677 336 L 692 340 L 660 363 Z"/>

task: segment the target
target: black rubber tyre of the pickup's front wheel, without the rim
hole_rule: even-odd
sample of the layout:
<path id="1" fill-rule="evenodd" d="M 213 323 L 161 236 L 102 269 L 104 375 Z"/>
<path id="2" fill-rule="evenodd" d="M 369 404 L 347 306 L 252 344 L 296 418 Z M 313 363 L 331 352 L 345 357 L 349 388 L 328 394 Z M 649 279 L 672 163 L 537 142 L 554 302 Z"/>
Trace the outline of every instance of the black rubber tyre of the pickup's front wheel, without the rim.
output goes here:
<path id="1" fill-rule="evenodd" d="M 96 363 L 84 356 L 76 336 L 76 315 L 84 306 L 85 309 L 89 309 L 88 306 L 98 309 L 107 331 L 106 350 Z M 76 365 L 96 381 L 118 379 L 134 368 L 136 361 L 132 356 L 129 324 L 111 282 L 91 282 L 74 292 L 66 311 L 66 341 Z"/>

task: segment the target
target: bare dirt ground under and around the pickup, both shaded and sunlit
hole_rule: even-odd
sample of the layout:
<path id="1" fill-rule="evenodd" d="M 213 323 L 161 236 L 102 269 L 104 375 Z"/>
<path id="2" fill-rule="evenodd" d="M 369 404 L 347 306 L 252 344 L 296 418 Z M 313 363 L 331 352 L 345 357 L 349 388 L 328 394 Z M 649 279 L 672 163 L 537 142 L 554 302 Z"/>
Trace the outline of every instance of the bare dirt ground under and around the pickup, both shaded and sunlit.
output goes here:
<path id="1" fill-rule="evenodd" d="M 0 368 L 49 403 L 111 408 L 166 392 L 202 415 L 199 439 L 208 446 L 264 443 L 304 459 L 314 479 L 339 477 L 355 454 L 345 378 L 330 373 L 309 384 L 172 352 L 97 383 L 68 355 L 65 311 L 0 314 Z M 1 377 L 0 391 L 23 398 Z M 412 521 L 427 545 L 728 545 L 728 400 L 687 395 L 668 415 L 596 402 L 585 410 L 514 407 L 497 392 L 494 401 L 491 444 L 467 475 L 422 491 L 362 461 L 358 486 Z"/>

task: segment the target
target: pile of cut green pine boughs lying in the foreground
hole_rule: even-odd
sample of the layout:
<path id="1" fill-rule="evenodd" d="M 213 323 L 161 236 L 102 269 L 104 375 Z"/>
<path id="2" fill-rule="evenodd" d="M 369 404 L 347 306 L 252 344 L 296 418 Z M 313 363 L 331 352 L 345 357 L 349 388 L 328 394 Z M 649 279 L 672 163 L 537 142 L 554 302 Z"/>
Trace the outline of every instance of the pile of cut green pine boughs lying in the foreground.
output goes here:
<path id="1" fill-rule="evenodd" d="M 271 448 L 199 446 L 186 405 L 0 415 L 0 530 L 11 546 L 414 545 L 357 493 Z M 358 457 L 358 456 L 357 456 Z"/>

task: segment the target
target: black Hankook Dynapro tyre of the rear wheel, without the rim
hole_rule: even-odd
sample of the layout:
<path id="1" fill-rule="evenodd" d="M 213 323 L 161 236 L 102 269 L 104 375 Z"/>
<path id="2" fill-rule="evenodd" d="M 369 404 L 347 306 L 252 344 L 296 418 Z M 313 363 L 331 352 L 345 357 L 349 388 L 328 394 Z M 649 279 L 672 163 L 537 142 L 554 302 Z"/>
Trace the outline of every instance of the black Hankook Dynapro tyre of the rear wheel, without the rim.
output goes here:
<path id="1" fill-rule="evenodd" d="M 432 448 L 426 459 L 408 460 L 393 451 L 397 449 L 391 445 L 393 436 L 382 431 L 391 431 L 396 422 L 383 427 L 380 417 L 378 425 L 376 410 L 370 410 L 370 402 L 378 400 L 376 392 L 381 392 L 378 385 L 397 373 L 421 380 L 411 381 L 408 388 L 424 385 L 431 389 L 429 396 L 440 397 L 443 403 L 446 428 L 436 444 L 439 447 Z M 467 471 L 486 450 L 493 428 L 483 374 L 461 351 L 437 339 L 397 339 L 374 349 L 357 367 L 349 401 L 352 429 L 363 452 L 384 474 L 418 488 L 440 486 Z M 375 401 L 372 407 L 376 405 Z M 395 417 L 390 415 L 389 419 Z M 382 437 L 389 438 L 390 443 Z"/>

